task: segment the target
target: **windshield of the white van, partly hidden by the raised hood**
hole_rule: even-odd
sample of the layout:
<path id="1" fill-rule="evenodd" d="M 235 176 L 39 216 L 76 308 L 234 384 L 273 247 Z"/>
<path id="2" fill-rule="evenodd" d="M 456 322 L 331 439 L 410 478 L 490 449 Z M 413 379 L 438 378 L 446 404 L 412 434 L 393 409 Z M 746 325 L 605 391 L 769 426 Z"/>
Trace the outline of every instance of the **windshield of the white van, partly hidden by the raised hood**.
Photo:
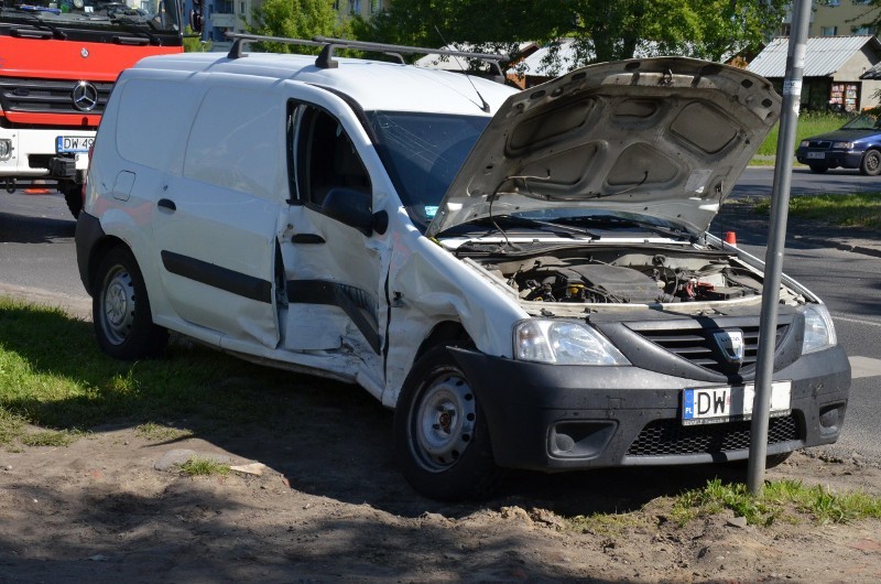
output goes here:
<path id="1" fill-rule="evenodd" d="M 401 201 L 424 229 L 490 118 L 399 111 L 367 118 Z"/>

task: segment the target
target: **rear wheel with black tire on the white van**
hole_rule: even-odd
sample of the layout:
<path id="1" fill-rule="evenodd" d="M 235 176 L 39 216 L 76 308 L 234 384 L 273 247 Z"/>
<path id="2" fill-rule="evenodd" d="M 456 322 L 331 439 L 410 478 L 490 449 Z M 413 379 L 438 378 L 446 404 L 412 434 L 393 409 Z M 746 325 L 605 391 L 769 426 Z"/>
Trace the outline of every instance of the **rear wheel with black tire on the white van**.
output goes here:
<path id="1" fill-rule="evenodd" d="M 141 270 L 124 247 L 111 249 L 98 264 L 91 316 L 98 346 L 117 359 L 159 357 L 168 343 L 167 331 L 153 324 Z"/>

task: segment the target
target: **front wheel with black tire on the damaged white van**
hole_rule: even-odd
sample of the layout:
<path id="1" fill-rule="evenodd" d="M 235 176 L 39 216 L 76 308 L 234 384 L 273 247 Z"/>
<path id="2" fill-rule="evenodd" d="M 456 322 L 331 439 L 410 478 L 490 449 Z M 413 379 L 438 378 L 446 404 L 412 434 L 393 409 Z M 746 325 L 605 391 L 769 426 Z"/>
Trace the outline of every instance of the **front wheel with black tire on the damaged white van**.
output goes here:
<path id="1" fill-rule="evenodd" d="M 404 381 L 394 450 L 404 478 L 432 499 L 483 499 L 501 483 L 480 401 L 445 345 L 427 350 Z"/>

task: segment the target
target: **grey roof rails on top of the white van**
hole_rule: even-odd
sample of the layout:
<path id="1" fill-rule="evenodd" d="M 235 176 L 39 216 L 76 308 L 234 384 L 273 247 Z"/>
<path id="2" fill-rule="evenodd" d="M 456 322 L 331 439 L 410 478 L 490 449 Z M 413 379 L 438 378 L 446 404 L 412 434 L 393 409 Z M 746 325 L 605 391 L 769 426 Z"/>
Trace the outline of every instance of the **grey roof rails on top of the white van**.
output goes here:
<path id="1" fill-rule="evenodd" d="M 346 39 L 331 39 L 329 36 L 314 36 L 312 40 L 304 40 L 304 39 L 287 39 L 285 36 L 262 36 L 259 34 L 244 34 L 244 33 L 227 33 L 229 39 L 233 39 L 232 47 L 229 50 L 229 58 L 241 58 L 244 56 L 242 54 L 241 45 L 246 42 L 271 42 L 271 43 L 284 43 L 284 44 L 295 44 L 301 46 L 320 46 L 322 53 L 318 55 L 318 58 L 315 60 L 315 66 L 320 67 L 323 69 L 336 68 L 338 63 L 334 60 L 334 50 L 339 48 L 354 48 L 356 51 L 369 51 L 372 53 L 385 53 L 389 55 L 394 56 L 401 63 L 403 63 L 403 57 L 401 54 L 417 54 L 417 53 L 425 53 L 425 54 L 434 54 L 434 55 L 446 55 L 446 56 L 454 56 L 454 57 L 465 57 L 465 58 L 474 58 L 477 61 L 486 61 L 490 63 L 491 66 L 494 66 L 499 72 L 501 72 L 501 66 L 499 65 L 502 61 L 510 61 L 509 55 L 500 55 L 493 53 L 469 53 L 467 51 L 450 51 L 448 48 L 426 48 L 424 46 L 406 46 L 406 45 L 396 45 L 396 44 L 385 44 L 385 43 L 369 43 L 367 41 L 349 41 Z"/>

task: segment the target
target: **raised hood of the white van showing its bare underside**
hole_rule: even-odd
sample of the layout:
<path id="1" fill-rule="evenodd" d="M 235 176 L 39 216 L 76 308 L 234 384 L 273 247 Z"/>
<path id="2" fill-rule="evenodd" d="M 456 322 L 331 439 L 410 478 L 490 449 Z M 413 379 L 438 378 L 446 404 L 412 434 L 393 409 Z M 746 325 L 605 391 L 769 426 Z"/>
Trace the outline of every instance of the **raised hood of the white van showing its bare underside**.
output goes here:
<path id="1" fill-rule="evenodd" d="M 763 77 L 685 57 L 570 72 L 504 101 L 426 235 L 490 215 L 564 208 L 649 215 L 700 234 L 781 101 Z"/>

